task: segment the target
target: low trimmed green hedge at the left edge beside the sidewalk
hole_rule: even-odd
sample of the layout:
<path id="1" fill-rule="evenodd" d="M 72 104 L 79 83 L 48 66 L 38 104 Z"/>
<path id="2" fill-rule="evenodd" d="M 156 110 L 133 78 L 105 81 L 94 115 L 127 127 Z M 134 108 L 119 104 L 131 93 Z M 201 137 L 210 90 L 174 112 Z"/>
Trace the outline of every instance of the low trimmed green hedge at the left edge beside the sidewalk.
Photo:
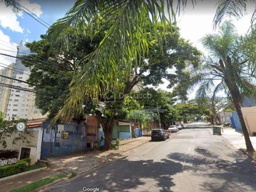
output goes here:
<path id="1" fill-rule="evenodd" d="M 30 159 L 27 158 L 19 160 L 15 164 L 0 167 L 0 178 L 8 177 L 26 171 L 25 168 L 29 163 Z"/>

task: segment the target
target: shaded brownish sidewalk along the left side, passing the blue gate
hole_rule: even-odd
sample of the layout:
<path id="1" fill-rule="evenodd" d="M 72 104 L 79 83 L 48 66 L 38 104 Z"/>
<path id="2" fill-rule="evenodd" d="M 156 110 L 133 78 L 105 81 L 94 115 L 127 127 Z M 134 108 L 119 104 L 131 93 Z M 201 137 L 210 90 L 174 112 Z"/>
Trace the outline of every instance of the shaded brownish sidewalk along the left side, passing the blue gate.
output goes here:
<path id="1" fill-rule="evenodd" d="M 8 192 L 12 189 L 25 186 L 43 178 L 56 175 L 58 173 L 75 173 L 82 174 L 93 168 L 106 164 L 117 158 L 122 157 L 130 150 L 145 144 L 151 140 L 150 137 L 132 138 L 120 141 L 120 149 L 109 151 L 93 151 L 82 154 L 73 154 L 62 157 L 48 158 L 50 167 L 40 172 L 31 173 L 26 176 L 20 176 L 13 179 L 0 182 L 0 191 Z"/>

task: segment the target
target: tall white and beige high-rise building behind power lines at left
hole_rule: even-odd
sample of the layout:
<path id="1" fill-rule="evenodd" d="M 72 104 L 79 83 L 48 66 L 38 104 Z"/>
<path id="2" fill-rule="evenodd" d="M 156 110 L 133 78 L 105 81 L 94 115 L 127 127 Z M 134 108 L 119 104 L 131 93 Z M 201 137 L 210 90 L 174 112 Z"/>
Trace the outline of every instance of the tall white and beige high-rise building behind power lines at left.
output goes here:
<path id="1" fill-rule="evenodd" d="M 30 54 L 30 49 L 24 46 L 23 42 L 17 46 L 17 57 Z M 16 80 L 0 77 L 0 83 L 13 85 L 20 88 L 32 89 L 26 81 L 29 77 L 29 68 L 24 66 L 19 58 L 15 63 L 0 70 L 0 74 Z M 21 81 L 19 81 L 21 80 Z M 45 118 L 35 106 L 35 94 L 32 92 L 18 90 L 16 88 L 6 88 L 0 85 L 0 110 L 4 112 L 4 118 Z"/>

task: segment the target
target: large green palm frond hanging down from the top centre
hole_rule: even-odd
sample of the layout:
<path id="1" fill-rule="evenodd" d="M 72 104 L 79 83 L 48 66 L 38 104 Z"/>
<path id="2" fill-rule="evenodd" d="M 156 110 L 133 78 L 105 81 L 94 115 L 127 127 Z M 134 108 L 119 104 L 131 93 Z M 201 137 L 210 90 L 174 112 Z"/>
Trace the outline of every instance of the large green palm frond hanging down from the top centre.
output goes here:
<path id="1" fill-rule="evenodd" d="M 175 20 L 172 1 L 167 1 L 168 16 L 165 2 L 78 0 L 64 18 L 50 27 L 48 37 L 52 42 L 61 38 L 67 48 L 79 35 L 90 33 L 93 38 L 99 30 L 106 31 L 98 48 L 82 60 L 83 67 L 70 84 L 70 98 L 59 116 L 82 110 L 85 97 L 98 98 L 99 94 L 104 95 L 118 86 L 120 75 L 130 76 L 132 66 L 138 66 L 140 58 L 152 46 L 150 35 L 156 36 L 160 45 L 164 43 L 166 26 L 172 25 L 172 18 Z M 185 6 L 186 1 L 178 3 Z M 159 22 L 163 26 L 162 33 L 159 33 Z"/>

